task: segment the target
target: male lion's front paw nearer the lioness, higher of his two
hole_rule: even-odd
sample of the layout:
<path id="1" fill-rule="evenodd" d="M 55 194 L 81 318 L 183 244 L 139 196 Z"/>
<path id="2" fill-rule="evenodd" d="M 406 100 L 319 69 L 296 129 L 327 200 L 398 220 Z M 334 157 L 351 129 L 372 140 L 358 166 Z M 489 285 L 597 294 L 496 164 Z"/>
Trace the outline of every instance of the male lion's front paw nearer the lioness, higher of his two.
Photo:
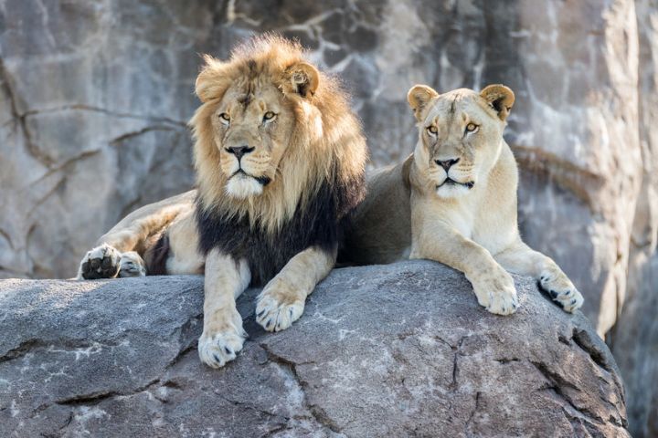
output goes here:
<path id="1" fill-rule="evenodd" d="M 274 278 L 256 301 L 256 321 L 268 331 L 281 331 L 302 316 L 306 295 Z"/>

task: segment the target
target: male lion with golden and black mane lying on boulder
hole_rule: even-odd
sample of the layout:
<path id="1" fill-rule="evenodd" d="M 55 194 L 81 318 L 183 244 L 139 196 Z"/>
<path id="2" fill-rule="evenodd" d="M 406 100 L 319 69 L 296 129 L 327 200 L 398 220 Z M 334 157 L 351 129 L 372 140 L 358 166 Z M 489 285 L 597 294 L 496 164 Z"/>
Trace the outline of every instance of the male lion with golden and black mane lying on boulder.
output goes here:
<path id="1" fill-rule="evenodd" d="M 134 212 L 101 237 L 81 278 L 205 271 L 201 360 L 233 360 L 246 337 L 235 298 L 264 285 L 256 319 L 302 316 L 334 266 L 346 215 L 365 194 L 366 141 L 345 92 L 277 36 L 206 57 L 190 124 L 198 192 Z M 204 266 L 205 264 L 205 266 Z"/>

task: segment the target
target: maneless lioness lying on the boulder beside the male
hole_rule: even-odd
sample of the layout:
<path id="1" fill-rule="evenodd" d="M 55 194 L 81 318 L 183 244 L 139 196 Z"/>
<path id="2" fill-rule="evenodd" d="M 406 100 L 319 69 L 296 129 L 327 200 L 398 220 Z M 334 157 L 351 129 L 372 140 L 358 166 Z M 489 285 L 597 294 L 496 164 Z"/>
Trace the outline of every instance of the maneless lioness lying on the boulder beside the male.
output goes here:
<path id="1" fill-rule="evenodd" d="M 478 302 L 500 315 L 518 306 L 505 269 L 537 278 L 568 312 L 580 308 L 583 298 L 568 277 L 518 232 L 518 170 L 503 140 L 512 90 L 490 85 L 479 94 L 456 89 L 440 95 L 417 85 L 408 100 L 418 120 L 416 149 L 368 180 L 342 258 L 358 264 L 407 255 L 436 260 L 462 271 Z"/>

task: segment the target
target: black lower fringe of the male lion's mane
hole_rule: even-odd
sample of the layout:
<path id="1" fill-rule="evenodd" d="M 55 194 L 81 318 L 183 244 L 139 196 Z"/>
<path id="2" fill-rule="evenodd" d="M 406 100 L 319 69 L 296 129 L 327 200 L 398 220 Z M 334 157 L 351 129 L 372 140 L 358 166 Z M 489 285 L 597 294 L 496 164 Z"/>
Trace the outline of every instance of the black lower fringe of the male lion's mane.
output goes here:
<path id="1" fill-rule="evenodd" d="M 337 165 L 336 165 L 337 168 Z M 337 171 L 337 169 L 335 169 Z M 340 181 L 333 172 L 333 181 L 324 181 L 310 201 L 297 206 L 292 218 L 276 233 L 249 224 L 249 217 L 230 216 L 206 208 L 196 199 L 196 224 L 199 248 L 204 255 L 218 248 L 234 259 L 246 259 L 251 271 L 251 284 L 263 286 L 276 276 L 292 256 L 317 246 L 334 251 L 345 235 L 345 226 L 356 205 L 366 194 L 365 175 L 355 175 Z"/>

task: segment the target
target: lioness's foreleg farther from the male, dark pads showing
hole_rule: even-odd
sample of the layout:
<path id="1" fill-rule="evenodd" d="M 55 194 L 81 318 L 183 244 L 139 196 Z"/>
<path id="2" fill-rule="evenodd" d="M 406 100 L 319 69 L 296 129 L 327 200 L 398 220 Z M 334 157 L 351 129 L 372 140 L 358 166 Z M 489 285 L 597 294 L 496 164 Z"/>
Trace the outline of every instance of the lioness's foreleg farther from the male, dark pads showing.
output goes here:
<path id="1" fill-rule="evenodd" d="M 566 311 L 575 312 L 582 306 L 583 297 L 578 289 L 547 255 L 518 241 L 494 258 L 510 272 L 536 278 L 539 287 Z"/>

